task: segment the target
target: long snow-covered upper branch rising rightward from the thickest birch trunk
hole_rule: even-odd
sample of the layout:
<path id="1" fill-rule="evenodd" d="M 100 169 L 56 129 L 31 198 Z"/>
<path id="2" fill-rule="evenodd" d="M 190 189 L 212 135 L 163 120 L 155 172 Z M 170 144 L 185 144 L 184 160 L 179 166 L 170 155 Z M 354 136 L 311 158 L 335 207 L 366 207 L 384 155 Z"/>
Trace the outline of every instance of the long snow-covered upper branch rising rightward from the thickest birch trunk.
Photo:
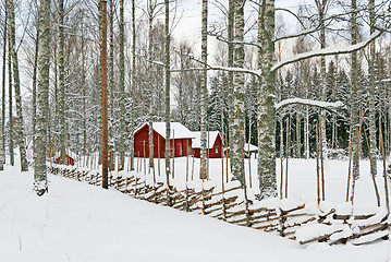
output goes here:
<path id="1" fill-rule="evenodd" d="M 350 45 L 350 46 L 343 46 L 343 47 L 330 47 L 330 48 L 323 48 L 320 50 L 313 50 L 313 51 L 308 51 L 308 52 L 302 52 L 298 53 L 296 56 L 293 56 L 291 58 L 288 58 L 285 60 L 282 60 L 278 63 L 276 63 L 272 68 L 271 71 L 276 71 L 286 64 L 290 63 L 294 63 L 304 59 L 308 59 L 308 58 L 314 58 L 314 57 L 322 57 L 322 56 L 330 56 L 330 55 L 343 55 L 343 53 L 350 53 L 350 52 L 354 52 L 357 51 L 359 49 L 365 48 L 366 46 L 369 45 L 370 41 L 375 40 L 376 38 L 378 38 L 380 35 L 382 34 L 382 31 L 378 31 L 374 34 L 370 35 L 370 37 L 362 43 L 358 43 L 356 45 Z"/>

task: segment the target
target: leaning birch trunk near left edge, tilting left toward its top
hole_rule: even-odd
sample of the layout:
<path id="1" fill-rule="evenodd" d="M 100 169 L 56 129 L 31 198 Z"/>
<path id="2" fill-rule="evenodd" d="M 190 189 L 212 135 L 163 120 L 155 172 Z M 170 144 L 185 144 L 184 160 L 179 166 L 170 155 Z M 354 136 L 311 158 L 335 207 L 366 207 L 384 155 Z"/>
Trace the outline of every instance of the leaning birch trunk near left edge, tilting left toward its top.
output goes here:
<path id="1" fill-rule="evenodd" d="M 21 83 L 20 83 L 20 73 L 19 73 L 19 60 L 17 60 L 17 50 L 16 50 L 16 40 L 15 40 L 15 11 L 13 0 L 7 0 L 7 10 L 8 10 L 8 36 L 10 52 L 12 57 L 12 68 L 13 68 L 13 84 L 15 90 L 15 103 L 16 103 L 16 134 L 17 134 L 17 145 L 21 155 L 21 171 L 27 171 L 27 158 L 26 158 L 26 146 L 23 132 L 23 114 L 22 114 L 22 97 L 21 97 Z M 12 97 L 11 97 L 12 99 Z M 12 108 L 11 108 L 12 110 Z M 10 119 L 10 122 L 12 118 Z"/>

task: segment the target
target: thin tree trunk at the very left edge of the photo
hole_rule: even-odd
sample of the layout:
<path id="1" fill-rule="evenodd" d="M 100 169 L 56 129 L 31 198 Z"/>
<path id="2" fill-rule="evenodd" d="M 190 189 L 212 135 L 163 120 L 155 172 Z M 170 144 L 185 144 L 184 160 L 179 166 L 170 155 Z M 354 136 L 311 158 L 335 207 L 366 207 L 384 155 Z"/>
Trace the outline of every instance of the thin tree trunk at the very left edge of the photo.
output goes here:
<path id="1" fill-rule="evenodd" d="M 1 99 L 1 154 L 2 163 L 5 163 L 5 70 L 7 70 L 7 9 L 4 14 L 4 27 L 3 27 L 3 55 L 2 55 L 2 99 Z"/>

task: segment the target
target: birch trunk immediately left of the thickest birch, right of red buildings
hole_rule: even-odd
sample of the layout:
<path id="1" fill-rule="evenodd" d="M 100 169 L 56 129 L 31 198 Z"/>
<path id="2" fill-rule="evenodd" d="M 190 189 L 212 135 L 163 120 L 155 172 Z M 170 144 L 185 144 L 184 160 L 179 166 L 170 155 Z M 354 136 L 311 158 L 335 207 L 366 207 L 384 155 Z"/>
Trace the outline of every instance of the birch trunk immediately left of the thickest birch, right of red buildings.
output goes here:
<path id="1" fill-rule="evenodd" d="M 244 39 L 244 0 L 234 1 L 235 10 L 235 41 L 243 43 Z M 244 66 L 244 46 L 236 44 L 234 47 L 234 63 L 235 68 L 243 68 Z M 234 106 L 234 121 L 232 124 L 232 175 L 234 179 L 241 181 L 243 186 L 243 169 L 241 141 L 245 141 L 244 132 L 244 73 L 235 72 L 233 75 L 233 106 Z"/>

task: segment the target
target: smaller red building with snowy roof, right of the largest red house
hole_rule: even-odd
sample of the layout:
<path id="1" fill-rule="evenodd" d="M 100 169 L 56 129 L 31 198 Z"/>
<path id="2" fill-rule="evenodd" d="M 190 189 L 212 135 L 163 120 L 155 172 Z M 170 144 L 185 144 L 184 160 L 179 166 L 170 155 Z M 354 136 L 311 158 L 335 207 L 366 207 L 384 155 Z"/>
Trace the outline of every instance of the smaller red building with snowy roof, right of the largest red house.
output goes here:
<path id="1" fill-rule="evenodd" d="M 200 132 L 193 132 L 195 136 L 193 139 L 193 154 L 194 157 L 200 157 Z M 206 134 L 207 148 L 209 153 L 209 158 L 221 158 L 222 152 L 222 139 L 218 131 L 209 131 L 209 145 L 208 145 L 208 133 Z"/>

